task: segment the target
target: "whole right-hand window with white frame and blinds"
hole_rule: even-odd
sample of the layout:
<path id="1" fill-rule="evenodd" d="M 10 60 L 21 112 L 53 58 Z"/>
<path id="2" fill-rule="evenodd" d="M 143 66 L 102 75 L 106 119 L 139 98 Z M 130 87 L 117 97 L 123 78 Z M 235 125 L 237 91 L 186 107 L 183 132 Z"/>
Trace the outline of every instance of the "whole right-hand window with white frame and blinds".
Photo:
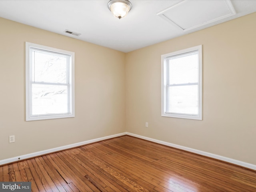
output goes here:
<path id="1" fill-rule="evenodd" d="M 202 120 L 202 45 L 162 55 L 162 116 Z"/>

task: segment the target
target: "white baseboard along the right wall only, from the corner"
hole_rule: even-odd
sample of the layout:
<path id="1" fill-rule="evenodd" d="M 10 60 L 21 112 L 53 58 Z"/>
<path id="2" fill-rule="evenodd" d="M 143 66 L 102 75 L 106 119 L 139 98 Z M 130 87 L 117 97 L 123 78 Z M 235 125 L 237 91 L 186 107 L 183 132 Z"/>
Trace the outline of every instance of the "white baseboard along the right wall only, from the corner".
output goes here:
<path id="1" fill-rule="evenodd" d="M 208 152 L 204 152 L 204 151 L 184 147 L 184 146 L 181 146 L 181 145 L 176 145 L 176 144 L 172 144 L 172 143 L 168 143 L 168 142 L 164 142 L 164 141 L 144 137 L 144 136 L 129 133 L 129 132 L 126 132 L 126 134 L 130 135 L 130 136 L 137 137 L 137 138 L 141 138 L 141 139 L 144 139 L 144 140 L 152 141 L 152 142 L 155 142 L 155 143 L 163 144 L 163 145 L 170 146 L 170 147 L 173 147 L 173 148 L 178 148 L 178 149 L 181 149 L 181 150 L 189 151 L 189 152 L 192 152 L 192 153 L 200 154 L 200 155 L 203 155 L 203 156 L 211 157 L 211 158 L 214 158 L 214 159 L 222 160 L 222 161 L 225 161 L 225 162 L 229 162 L 229 163 L 232 163 L 232 164 L 236 164 L 236 165 L 239 165 L 239 166 L 243 166 L 243 167 L 246 167 L 246 168 L 249 168 L 249 169 L 256 170 L 256 165 L 254 165 L 254 164 L 250 164 L 250 163 L 238 161 L 238 160 L 235 160 L 235 159 L 231 159 L 231 158 L 228 158 L 228 157 L 224 157 L 224 156 L 220 156 L 220 155 L 216 155 L 216 154 L 212 154 L 212 153 L 208 153 Z"/>

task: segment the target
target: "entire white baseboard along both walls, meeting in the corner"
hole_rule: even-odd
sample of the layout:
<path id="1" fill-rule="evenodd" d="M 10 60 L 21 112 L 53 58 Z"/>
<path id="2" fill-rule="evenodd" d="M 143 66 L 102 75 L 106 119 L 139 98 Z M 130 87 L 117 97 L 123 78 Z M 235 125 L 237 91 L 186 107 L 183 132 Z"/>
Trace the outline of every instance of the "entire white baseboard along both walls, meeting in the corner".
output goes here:
<path id="1" fill-rule="evenodd" d="M 65 150 L 65 149 L 70 149 L 70 148 L 74 148 L 74 147 L 78 147 L 78 146 L 82 146 L 82 145 L 86 145 L 86 144 L 90 144 L 90 143 L 94 143 L 94 142 L 99 142 L 99 141 L 102 141 L 102 140 L 111 139 L 111 138 L 119 137 L 119 136 L 123 136 L 123 135 L 134 136 L 134 137 L 141 138 L 141 139 L 144 139 L 144 140 L 152 141 L 152 142 L 159 143 L 159 144 L 162 144 L 162 145 L 178 148 L 178 149 L 181 149 L 181 150 L 189 151 L 189 152 L 192 152 L 192 153 L 200 154 L 200 155 L 203 155 L 203 156 L 211 157 L 211 158 L 214 158 L 214 159 L 218 159 L 218 160 L 222 160 L 222 161 L 229 162 L 229 163 L 232 163 L 232 164 L 236 164 L 236 165 L 239 165 L 239 166 L 243 166 L 243 167 L 246 167 L 246 168 L 249 168 L 249 169 L 252 169 L 252 170 L 256 170 L 256 165 L 254 165 L 254 164 L 250 164 L 250 163 L 238 161 L 238 160 L 235 160 L 235 159 L 231 159 L 231 158 L 228 158 L 228 157 L 224 157 L 224 156 L 220 156 L 220 155 L 216 155 L 216 154 L 196 150 L 196 149 L 193 149 L 193 148 L 184 147 L 184 146 L 181 146 L 181 145 L 176 145 L 176 144 L 164 142 L 164 141 L 161 141 L 161 140 L 152 139 L 152 138 L 149 138 L 149 137 L 144 137 L 144 136 L 129 133 L 129 132 L 124 132 L 124 133 L 120 133 L 120 134 L 115 134 L 115 135 L 110 135 L 110 136 L 106 136 L 106 137 L 96 138 L 96 139 L 92 139 L 92 140 L 88 140 L 88 141 L 84 141 L 84 142 L 74 143 L 74 144 L 70 144 L 70 145 L 65 145 L 65 146 L 61 146 L 61 147 L 56 147 L 56 148 L 52 148 L 52 149 L 48 149 L 48 150 L 43 150 L 43 151 L 39 151 L 39 152 L 34 152 L 34 153 L 30 153 L 30 154 L 25 154 L 25 155 L 13 157 L 13 158 L 0 160 L 0 165 L 4 165 L 4 164 L 16 162 L 16 161 L 24 160 L 24 159 L 28 159 L 28 158 L 33 158 L 33 157 L 36 157 L 36 156 L 41 156 L 41 155 L 44 155 L 44 154 L 49 154 L 49 153 L 53 153 L 53 152 L 57 152 L 57 151 Z"/>

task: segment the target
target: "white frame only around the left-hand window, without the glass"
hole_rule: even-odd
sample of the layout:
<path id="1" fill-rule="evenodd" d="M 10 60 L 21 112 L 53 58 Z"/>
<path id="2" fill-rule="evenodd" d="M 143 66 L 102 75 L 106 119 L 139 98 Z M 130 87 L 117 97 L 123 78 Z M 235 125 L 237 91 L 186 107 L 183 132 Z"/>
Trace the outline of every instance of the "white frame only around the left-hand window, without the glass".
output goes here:
<path id="1" fill-rule="evenodd" d="M 30 56 L 30 48 L 36 48 L 42 51 L 55 52 L 58 54 L 66 54 L 70 56 L 70 83 L 68 87 L 69 100 L 68 105 L 70 112 L 67 114 L 49 114 L 33 116 L 32 113 L 32 63 Z M 46 120 L 56 118 L 70 118 L 75 116 L 75 79 L 74 79 L 74 67 L 75 67 L 75 53 L 26 42 L 26 121 L 33 120 Z M 43 83 L 42 83 L 43 84 Z"/>

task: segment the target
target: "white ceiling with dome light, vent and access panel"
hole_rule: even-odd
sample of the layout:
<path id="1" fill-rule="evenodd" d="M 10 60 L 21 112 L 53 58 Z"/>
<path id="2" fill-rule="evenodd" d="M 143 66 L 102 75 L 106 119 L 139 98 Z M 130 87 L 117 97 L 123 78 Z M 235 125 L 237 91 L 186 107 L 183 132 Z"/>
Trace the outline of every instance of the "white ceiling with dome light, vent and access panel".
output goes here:
<path id="1" fill-rule="evenodd" d="M 0 0 L 0 17 L 130 52 L 256 12 L 256 0 L 130 0 L 119 20 L 108 1 Z"/>

